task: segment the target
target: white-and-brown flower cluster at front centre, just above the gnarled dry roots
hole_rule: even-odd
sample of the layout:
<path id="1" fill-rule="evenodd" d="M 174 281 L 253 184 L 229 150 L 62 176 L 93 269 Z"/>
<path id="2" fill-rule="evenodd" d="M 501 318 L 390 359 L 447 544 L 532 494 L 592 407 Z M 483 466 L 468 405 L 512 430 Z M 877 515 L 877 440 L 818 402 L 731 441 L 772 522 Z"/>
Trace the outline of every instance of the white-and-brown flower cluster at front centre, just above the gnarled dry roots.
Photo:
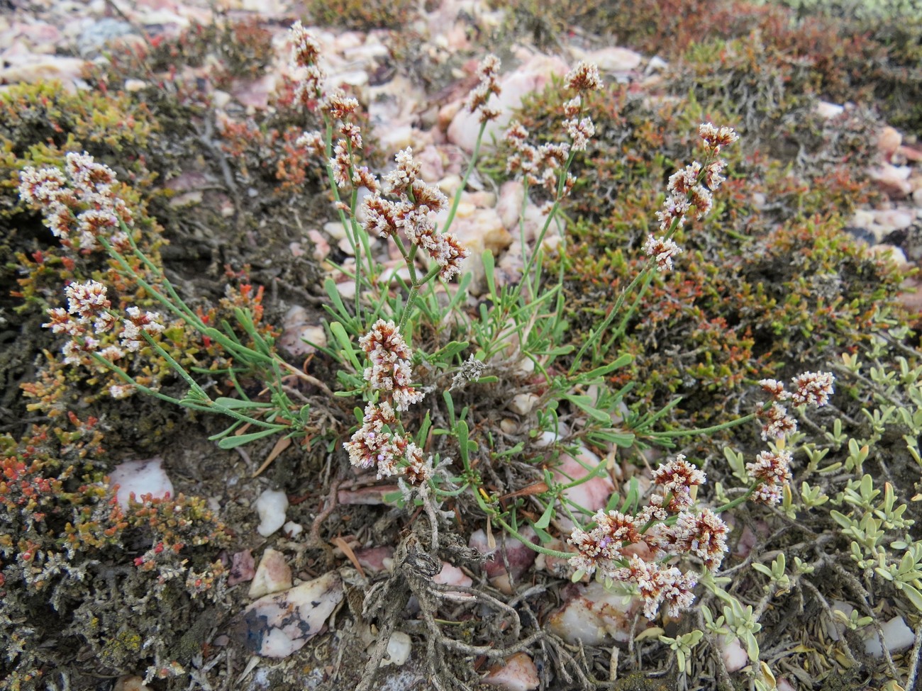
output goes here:
<path id="1" fill-rule="evenodd" d="M 349 461 L 360 468 L 376 468 L 378 477 L 403 474 L 414 486 L 432 475 L 431 459 L 399 431 L 396 411 L 419 403 L 423 392 L 410 385 L 412 352 L 394 322 L 378 320 L 359 339 L 372 367 L 365 369 L 365 381 L 381 392 L 378 403 L 365 407 L 361 427 L 344 446 Z"/>

